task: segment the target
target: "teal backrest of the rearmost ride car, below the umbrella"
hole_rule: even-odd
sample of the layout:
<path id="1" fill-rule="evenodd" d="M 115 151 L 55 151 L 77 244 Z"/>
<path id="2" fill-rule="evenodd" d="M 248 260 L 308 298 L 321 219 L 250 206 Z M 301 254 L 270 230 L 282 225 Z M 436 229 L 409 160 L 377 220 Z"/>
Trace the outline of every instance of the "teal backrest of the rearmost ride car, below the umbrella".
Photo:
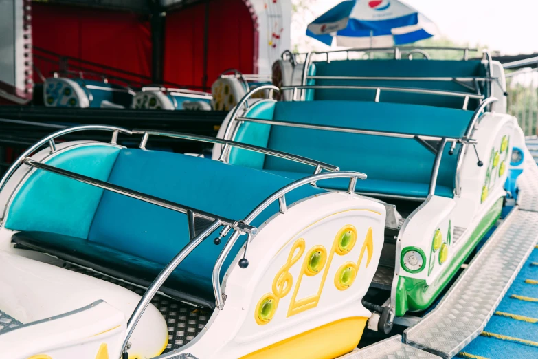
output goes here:
<path id="1" fill-rule="evenodd" d="M 317 76 L 361 76 L 361 77 L 474 77 L 485 76 L 485 67 L 480 60 L 346 60 L 315 63 Z M 317 79 L 315 85 L 355 85 L 382 87 L 414 87 L 446 91 L 469 92 L 453 81 L 418 80 L 328 80 Z M 372 101 L 374 90 L 316 89 L 315 100 L 365 100 Z M 381 102 L 414 103 L 461 109 L 463 98 L 406 94 L 381 91 Z M 475 109 L 478 100 L 469 101 L 469 109 Z"/>

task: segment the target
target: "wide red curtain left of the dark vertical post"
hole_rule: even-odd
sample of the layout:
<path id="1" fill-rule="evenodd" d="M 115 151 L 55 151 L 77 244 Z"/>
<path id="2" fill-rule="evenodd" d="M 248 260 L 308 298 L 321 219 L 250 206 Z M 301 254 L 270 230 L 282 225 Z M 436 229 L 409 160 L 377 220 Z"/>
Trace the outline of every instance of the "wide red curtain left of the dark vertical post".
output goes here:
<path id="1" fill-rule="evenodd" d="M 34 47 L 150 77 L 150 23 L 142 14 L 32 3 L 32 38 Z M 38 57 L 45 56 L 42 52 L 36 49 L 34 55 L 45 77 L 58 70 L 57 64 Z M 91 67 L 74 61 L 69 65 Z M 126 77 L 110 70 L 106 73 Z"/>

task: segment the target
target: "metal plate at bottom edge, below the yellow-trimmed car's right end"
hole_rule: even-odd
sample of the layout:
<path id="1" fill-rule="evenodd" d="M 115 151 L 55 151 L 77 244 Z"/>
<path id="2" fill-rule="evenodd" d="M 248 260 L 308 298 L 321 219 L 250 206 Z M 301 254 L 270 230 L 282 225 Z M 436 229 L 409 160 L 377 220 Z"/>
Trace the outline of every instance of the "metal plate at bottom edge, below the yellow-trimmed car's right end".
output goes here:
<path id="1" fill-rule="evenodd" d="M 402 342 L 401 336 L 391 336 L 363 349 L 355 349 L 338 359 L 405 359 L 405 358 L 439 358 L 438 356 L 416 349 Z"/>

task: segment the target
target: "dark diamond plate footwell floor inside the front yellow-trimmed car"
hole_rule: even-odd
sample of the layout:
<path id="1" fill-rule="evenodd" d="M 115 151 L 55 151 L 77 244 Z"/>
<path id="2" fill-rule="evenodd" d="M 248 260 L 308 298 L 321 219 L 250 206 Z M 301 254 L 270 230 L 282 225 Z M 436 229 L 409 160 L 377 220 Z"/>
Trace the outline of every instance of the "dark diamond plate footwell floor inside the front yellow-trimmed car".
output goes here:
<path id="1" fill-rule="evenodd" d="M 93 276 L 94 278 L 101 279 L 115 285 L 120 285 L 120 287 L 131 290 L 140 296 L 146 292 L 144 288 L 114 279 L 110 276 L 105 276 L 104 274 L 100 274 L 98 272 L 93 272 L 93 270 L 87 268 L 78 267 L 78 265 L 65 263 L 64 268 L 74 272 L 86 274 L 87 276 Z M 155 305 L 155 307 L 159 309 L 168 325 L 168 345 L 164 351 L 165 353 L 173 349 L 179 349 L 180 347 L 183 347 L 183 345 L 190 342 L 190 340 L 194 339 L 194 337 L 203 330 L 211 316 L 211 312 L 205 312 L 204 309 L 175 301 L 172 298 L 168 298 L 168 296 L 163 296 L 160 294 L 157 294 L 153 298 L 151 304 Z"/>

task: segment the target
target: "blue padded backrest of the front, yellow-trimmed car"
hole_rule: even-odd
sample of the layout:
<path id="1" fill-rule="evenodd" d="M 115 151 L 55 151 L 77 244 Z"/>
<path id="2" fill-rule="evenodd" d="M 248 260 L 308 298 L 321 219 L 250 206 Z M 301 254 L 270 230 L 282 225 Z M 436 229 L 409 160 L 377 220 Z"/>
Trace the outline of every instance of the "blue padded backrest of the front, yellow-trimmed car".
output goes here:
<path id="1" fill-rule="evenodd" d="M 199 157 L 123 149 L 109 182 L 239 220 L 269 195 L 293 181 L 265 171 Z M 324 192 L 320 188 L 302 186 L 287 195 L 287 202 L 291 204 Z M 273 204 L 253 224 L 259 226 L 277 212 L 278 204 Z M 145 261 L 165 265 L 189 242 L 188 233 L 187 218 L 183 213 L 105 191 L 88 239 Z M 223 243 L 216 246 L 212 238 L 206 239 L 177 268 L 177 288 L 185 288 L 183 291 L 188 292 L 189 301 L 200 298 L 200 305 L 214 301 L 212 270 Z M 238 241 L 233 248 L 224 263 L 222 275 L 242 245 L 243 242 Z"/>

